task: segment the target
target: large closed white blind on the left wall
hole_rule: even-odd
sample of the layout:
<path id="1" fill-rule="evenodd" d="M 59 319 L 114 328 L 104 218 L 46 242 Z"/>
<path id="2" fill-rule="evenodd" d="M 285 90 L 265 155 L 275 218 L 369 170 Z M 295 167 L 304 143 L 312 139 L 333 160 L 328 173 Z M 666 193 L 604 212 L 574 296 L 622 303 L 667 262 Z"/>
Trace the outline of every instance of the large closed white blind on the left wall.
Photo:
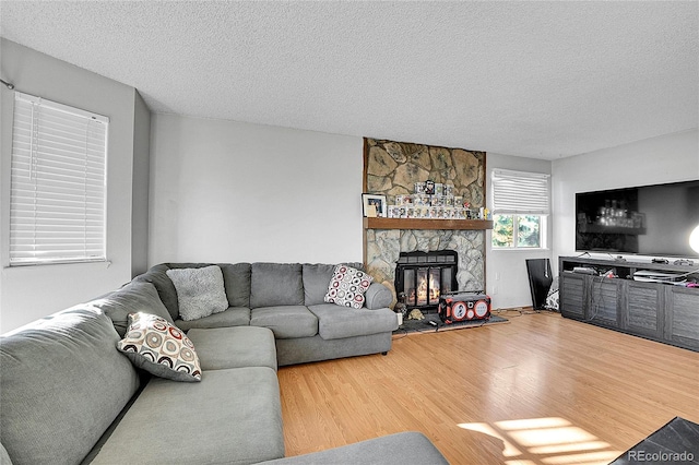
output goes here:
<path id="1" fill-rule="evenodd" d="M 109 119 L 15 93 L 10 264 L 106 260 Z"/>

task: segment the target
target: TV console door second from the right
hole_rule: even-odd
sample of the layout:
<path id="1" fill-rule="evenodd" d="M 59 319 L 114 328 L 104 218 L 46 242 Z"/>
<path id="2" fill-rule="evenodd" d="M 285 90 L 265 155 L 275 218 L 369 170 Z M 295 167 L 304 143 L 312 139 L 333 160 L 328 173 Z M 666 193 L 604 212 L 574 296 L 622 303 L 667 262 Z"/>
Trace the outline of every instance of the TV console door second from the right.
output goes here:
<path id="1" fill-rule="evenodd" d="M 663 297 L 662 284 L 626 283 L 625 329 L 636 334 L 660 338 L 663 336 Z"/>

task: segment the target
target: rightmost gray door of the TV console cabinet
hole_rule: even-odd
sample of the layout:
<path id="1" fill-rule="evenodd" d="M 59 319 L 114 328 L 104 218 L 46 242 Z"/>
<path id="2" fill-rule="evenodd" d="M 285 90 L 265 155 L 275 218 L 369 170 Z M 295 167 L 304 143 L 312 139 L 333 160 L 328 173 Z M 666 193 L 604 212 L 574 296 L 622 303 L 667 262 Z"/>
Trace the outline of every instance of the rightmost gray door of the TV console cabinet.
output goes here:
<path id="1" fill-rule="evenodd" d="M 699 349 L 699 293 L 666 286 L 665 299 L 665 339 Z"/>

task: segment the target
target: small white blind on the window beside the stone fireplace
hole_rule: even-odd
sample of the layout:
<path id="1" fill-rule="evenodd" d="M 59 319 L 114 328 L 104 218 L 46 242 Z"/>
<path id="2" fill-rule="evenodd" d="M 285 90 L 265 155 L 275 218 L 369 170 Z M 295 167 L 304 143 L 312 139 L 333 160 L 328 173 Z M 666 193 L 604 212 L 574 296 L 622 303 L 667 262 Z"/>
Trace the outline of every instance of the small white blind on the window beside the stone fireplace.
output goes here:
<path id="1" fill-rule="evenodd" d="M 547 215 L 548 175 L 493 170 L 493 213 Z"/>

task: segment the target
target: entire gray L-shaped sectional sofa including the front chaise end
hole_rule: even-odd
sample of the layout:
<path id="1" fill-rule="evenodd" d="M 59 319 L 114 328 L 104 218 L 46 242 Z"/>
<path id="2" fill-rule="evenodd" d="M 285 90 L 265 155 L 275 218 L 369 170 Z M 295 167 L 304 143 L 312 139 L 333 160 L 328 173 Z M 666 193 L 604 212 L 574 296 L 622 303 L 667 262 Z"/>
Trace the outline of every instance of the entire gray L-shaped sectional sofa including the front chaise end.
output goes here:
<path id="1" fill-rule="evenodd" d="M 180 312 L 167 272 L 211 265 L 161 264 L 2 335 L 0 463 L 447 463 L 419 432 L 284 457 L 277 367 L 387 353 L 398 326 L 390 293 L 371 284 L 365 306 L 347 308 L 324 301 L 334 265 L 216 266 L 227 308 L 203 318 Z M 186 332 L 201 381 L 162 378 L 162 361 L 154 371 L 117 349 L 134 313 Z"/>

